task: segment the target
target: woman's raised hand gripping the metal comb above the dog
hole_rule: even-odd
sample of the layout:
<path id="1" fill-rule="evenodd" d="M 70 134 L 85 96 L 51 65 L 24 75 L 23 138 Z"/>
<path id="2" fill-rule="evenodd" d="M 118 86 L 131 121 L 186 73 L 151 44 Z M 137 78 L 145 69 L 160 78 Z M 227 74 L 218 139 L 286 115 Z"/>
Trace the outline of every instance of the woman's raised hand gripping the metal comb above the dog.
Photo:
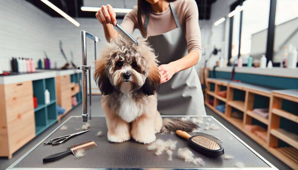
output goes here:
<path id="1" fill-rule="evenodd" d="M 116 25 L 116 13 L 111 5 L 103 5 L 101 8 L 96 12 L 96 18 L 102 24 L 112 24 Z"/>

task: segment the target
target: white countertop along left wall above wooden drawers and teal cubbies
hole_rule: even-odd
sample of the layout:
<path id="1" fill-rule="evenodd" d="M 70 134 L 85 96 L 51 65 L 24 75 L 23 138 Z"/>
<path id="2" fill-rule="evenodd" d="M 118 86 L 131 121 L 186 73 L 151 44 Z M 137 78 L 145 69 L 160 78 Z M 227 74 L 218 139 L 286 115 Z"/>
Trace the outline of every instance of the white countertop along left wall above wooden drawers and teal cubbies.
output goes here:
<path id="1" fill-rule="evenodd" d="M 59 75 L 69 75 L 74 73 L 80 73 L 81 70 L 69 69 L 69 70 L 39 70 L 35 73 L 13 73 L 13 75 L 0 75 L 0 84 L 13 84 L 24 81 L 33 81 L 44 78 L 52 78 Z"/>

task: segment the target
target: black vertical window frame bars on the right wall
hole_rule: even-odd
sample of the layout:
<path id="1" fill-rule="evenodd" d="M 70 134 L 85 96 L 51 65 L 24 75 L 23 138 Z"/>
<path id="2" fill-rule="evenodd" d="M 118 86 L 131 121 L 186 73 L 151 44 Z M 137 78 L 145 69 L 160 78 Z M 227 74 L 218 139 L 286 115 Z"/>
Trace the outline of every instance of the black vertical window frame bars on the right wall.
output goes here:
<path id="1" fill-rule="evenodd" d="M 238 5 L 243 5 L 243 2 L 246 0 L 237 0 L 230 6 L 230 12 L 235 10 Z M 266 44 L 266 58 L 267 63 L 271 60 L 273 61 L 273 47 L 274 47 L 274 32 L 275 32 L 275 14 L 276 14 L 276 4 L 277 0 L 270 0 L 269 6 L 269 20 L 268 20 L 268 34 L 267 34 L 267 44 Z M 240 24 L 239 24 L 239 46 L 238 46 L 238 58 L 240 57 L 240 48 L 241 48 L 241 34 L 242 34 L 242 14 L 240 12 Z M 233 20 L 234 16 L 230 18 L 230 28 L 229 28 L 229 52 L 228 52 L 228 61 L 232 58 L 232 40 L 233 40 Z M 229 63 L 230 65 L 230 63 Z"/>

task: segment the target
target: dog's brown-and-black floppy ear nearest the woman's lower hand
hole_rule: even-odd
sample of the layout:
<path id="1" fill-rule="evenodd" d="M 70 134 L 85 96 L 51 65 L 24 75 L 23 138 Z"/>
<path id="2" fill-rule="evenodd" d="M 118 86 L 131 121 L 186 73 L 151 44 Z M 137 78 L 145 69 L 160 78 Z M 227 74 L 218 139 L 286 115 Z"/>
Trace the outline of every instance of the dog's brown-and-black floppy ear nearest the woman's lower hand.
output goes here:
<path id="1" fill-rule="evenodd" d="M 154 95 L 159 89 L 160 74 L 157 69 L 157 66 L 154 65 L 150 69 L 148 77 L 145 80 L 144 85 L 142 86 L 142 91 L 145 96 Z"/>

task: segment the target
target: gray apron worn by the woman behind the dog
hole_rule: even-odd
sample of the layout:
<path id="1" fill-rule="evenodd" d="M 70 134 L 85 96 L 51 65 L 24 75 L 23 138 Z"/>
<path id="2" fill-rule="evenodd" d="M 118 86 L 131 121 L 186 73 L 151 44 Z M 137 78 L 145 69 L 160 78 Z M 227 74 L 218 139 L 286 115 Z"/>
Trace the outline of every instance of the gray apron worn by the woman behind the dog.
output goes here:
<path id="1" fill-rule="evenodd" d="M 159 64 L 169 64 L 187 55 L 187 43 L 183 29 L 173 5 L 170 2 L 177 28 L 169 32 L 150 36 L 149 43 L 158 54 Z M 146 14 L 144 29 L 147 30 L 150 12 Z M 173 75 L 160 84 L 157 110 L 162 115 L 206 115 L 201 83 L 195 67 L 190 67 Z"/>

